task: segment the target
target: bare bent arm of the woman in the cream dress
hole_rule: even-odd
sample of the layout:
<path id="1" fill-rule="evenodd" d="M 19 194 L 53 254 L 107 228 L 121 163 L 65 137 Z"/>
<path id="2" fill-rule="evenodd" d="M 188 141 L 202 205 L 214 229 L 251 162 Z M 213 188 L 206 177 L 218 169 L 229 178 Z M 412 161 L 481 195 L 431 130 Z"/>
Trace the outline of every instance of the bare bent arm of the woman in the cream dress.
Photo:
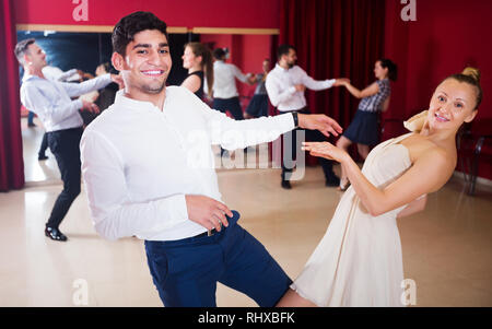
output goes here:
<path id="1" fill-rule="evenodd" d="M 422 195 L 438 190 L 450 177 L 454 162 L 446 152 L 433 148 L 419 155 L 401 177 L 378 189 L 361 172 L 356 163 L 343 150 L 328 142 L 305 142 L 304 150 L 312 155 L 339 162 L 345 171 L 355 193 L 367 212 L 377 216 L 412 202 Z"/>

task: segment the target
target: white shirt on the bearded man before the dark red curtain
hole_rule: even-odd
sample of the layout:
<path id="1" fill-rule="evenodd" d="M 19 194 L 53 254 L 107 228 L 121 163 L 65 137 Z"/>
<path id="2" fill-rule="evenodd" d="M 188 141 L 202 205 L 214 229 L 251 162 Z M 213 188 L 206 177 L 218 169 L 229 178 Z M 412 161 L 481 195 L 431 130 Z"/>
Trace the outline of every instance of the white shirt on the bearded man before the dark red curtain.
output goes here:
<path id="1" fill-rule="evenodd" d="M 306 106 L 304 92 L 297 92 L 296 84 L 304 84 L 309 90 L 321 91 L 331 87 L 335 81 L 335 79 L 317 81 L 297 66 L 285 70 L 277 63 L 276 68 L 268 73 L 265 84 L 271 104 L 280 111 L 291 111 Z"/>

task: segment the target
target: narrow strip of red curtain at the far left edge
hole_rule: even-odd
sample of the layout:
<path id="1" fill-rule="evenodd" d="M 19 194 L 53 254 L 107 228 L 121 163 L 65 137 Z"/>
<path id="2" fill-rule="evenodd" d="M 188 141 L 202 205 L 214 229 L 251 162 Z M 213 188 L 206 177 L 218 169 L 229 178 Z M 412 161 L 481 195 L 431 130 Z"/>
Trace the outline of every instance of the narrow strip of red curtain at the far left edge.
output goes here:
<path id="1" fill-rule="evenodd" d="M 13 0 L 0 2 L 0 191 L 24 186 Z"/>

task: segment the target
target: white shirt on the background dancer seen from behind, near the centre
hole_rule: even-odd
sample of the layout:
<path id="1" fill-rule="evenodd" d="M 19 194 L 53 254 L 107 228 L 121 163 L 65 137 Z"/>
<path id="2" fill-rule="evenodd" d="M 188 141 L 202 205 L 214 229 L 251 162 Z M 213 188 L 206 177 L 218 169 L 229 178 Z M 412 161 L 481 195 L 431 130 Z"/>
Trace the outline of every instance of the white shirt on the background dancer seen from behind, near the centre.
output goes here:
<path id="1" fill-rule="evenodd" d="M 213 63 L 213 98 L 238 96 L 236 78 L 245 83 L 248 80 L 248 77 L 243 74 L 236 66 L 225 63 L 223 60 L 215 60 Z"/>

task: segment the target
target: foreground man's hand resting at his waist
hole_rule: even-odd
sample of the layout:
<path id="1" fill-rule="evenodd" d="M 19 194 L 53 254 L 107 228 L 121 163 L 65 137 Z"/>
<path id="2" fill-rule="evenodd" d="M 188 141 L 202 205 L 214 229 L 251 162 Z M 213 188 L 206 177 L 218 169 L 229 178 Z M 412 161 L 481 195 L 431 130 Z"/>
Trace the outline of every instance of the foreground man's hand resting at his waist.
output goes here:
<path id="1" fill-rule="evenodd" d="M 215 228 L 221 231 L 221 224 L 229 226 L 225 215 L 232 218 L 233 213 L 222 202 L 206 196 L 185 196 L 186 208 L 190 221 L 206 227 L 207 230 Z"/>

